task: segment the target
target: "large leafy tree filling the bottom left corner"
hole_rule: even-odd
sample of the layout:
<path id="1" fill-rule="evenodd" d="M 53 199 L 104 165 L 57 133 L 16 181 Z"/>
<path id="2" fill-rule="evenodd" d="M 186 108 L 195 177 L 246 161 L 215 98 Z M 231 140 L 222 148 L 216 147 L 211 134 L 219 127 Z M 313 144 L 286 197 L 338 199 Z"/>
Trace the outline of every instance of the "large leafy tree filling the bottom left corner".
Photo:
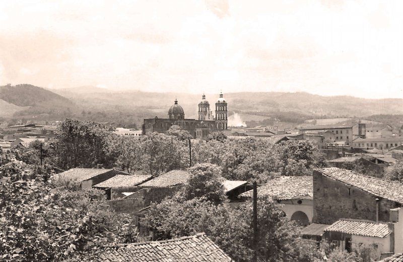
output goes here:
<path id="1" fill-rule="evenodd" d="M 132 219 L 110 211 L 103 191 L 32 179 L 27 168 L 22 162 L 1 167 L 9 178 L 0 183 L 2 261 L 60 261 L 135 241 Z"/>

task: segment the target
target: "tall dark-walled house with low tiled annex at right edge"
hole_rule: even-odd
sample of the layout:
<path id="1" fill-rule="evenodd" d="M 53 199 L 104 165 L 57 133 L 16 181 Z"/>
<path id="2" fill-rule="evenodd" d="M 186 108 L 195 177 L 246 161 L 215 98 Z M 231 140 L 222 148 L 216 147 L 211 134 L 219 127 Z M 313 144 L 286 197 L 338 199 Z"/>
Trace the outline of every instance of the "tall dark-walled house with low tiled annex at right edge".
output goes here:
<path id="1" fill-rule="evenodd" d="M 313 192 L 313 222 L 340 249 L 403 251 L 403 184 L 331 167 L 313 171 Z"/>

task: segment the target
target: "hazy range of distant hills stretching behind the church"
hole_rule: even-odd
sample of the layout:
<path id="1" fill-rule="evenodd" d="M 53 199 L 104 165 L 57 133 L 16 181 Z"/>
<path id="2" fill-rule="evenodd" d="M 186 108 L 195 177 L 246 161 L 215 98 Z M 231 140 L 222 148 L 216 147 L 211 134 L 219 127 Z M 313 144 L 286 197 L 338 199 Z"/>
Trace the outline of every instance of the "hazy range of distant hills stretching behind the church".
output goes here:
<path id="1" fill-rule="evenodd" d="M 57 93 L 57 94 L 56 94 Z M 167 117 L 169 107 L 177 98 L 186 118 L 197 117 L 199 95 L 157 93 L 130 90 L 109 90 L 97 87 L 43 89 L 32 85 L 0 87 L 0 99 L 18 106 L 30 106 L 18 115 L 53 114 L 94 121 L 121 121 L 140 126 L 143 118 Z M 206 94 L 214 111 L 219 94 Z M 305 92 L 241 92 L 224 93 L 229 116 L 237 113 L 249 124 L 302 123 L 312 118 L 362 118 L 370 115 L 402 115 L 403 99 L 365 99 L 350 96 L 324 97 Z M 1 104 L 0 104 L 1 105 Z M 18 108 L 12 108 L 18 110 Z M 19 114 L 21 113 L 21 114 Z M 2 112 L 0 112 L 2 116 Z M 397 116 L 399 117 L 399 116 Z M 379 118 L 379 117 L 378 117 Z M 264 121 L 263 121 L 264 120 Z M 403 122 L 397 119 L 396 123 Z M 295 126 L 295 125 L 293 125 Z"/>

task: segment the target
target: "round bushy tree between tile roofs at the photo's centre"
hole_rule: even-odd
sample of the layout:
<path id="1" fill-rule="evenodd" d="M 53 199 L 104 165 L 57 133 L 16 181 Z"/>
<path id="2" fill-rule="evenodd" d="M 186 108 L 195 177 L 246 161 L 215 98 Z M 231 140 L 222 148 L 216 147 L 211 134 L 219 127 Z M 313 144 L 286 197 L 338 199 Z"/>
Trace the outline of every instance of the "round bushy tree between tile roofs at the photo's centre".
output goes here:
<path id="1" fill-rule="evenodd" d="M 188 183 L 185 185 L 186 199 L 205 197 L 213 203 L 225 200 L 221 170 L 213 164 L 197 164 L 190 168 Z"/>

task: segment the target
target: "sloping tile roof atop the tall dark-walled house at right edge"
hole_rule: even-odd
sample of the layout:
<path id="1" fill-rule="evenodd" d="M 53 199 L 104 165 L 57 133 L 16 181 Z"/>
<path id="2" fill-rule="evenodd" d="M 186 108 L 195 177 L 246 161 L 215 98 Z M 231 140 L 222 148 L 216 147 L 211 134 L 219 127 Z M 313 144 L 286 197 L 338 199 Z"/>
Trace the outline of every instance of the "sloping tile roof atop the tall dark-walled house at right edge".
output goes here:
<path id="1" fill-rule="evenodd" d="M 372 176 L 365 176 L 351 170 L 337 167 L 320 168 L 316 170 L 327 177 L 355 186 L 376 195 L 377 197 L 403 204 L 402 183 L 387 181 Z"/>

